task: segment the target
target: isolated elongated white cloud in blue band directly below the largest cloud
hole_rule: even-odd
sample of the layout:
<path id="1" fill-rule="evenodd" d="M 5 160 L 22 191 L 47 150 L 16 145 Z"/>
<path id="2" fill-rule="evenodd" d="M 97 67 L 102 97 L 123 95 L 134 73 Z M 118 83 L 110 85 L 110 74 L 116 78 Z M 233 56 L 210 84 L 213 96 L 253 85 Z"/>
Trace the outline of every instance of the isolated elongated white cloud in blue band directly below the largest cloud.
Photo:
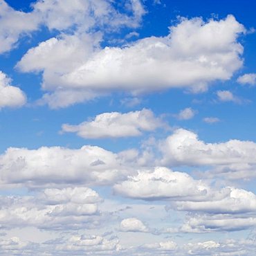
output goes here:
<path id="1" fill-rule="evenodd" d="M 142 131 L 154 131 L 163 122 L 149 109 L 129 113 L 102 113 L 80 125 L 62 125 L 62 131 L 75 132 L 82 138 L 120 138 L 140 136 Z"/>

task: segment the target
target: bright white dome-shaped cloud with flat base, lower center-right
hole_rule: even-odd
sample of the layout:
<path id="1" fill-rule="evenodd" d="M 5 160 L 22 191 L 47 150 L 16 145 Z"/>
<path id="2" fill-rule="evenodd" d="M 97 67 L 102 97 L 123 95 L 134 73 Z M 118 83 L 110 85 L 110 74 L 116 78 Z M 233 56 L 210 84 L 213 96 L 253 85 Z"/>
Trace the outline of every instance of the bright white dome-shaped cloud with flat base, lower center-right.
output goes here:
<path id="1" fill-rule="evenodd" d="M 185 172 L 172 172 L 156 167 L 153 172 L 141 171 L 113 186 L 116 193 L 145 200 L 199 200 L 209 196 L 209 188 Z"/>

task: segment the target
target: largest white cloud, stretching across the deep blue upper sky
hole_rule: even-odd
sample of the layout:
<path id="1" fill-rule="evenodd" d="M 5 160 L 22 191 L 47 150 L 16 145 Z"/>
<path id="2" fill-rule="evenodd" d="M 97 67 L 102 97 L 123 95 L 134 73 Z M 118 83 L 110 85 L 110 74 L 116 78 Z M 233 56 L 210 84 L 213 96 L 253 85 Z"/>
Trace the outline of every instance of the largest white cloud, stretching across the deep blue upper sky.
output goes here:
<path id="1" fill-rule="evenodd" d="M 17 66 L 23 72 L 43 71 L 42 87 L 48 91 L 45 102 L 51 100 L 51 95 L 65 100 L 57 95 L 66 91 L 95 95 L 115 91 L 136 95 L 174 87 L 202 91 L 214 80 L 230 79 L 241 67 L 243 47 L 237 37 L 244 31 L 229 15 L 220 21 L 181 19 L 166 37 L 148 37 L 121 48 L 100 48 L 97 40 L 93 46 L 88 45 L 77 33 L 73 37 L 81 41 L 83 50 L 79 57 L 68 58 L 68 67 L 66 57 L 53 48 L 63 46 L 62 53 L 80 53 L 76 45 L 70 44 L 69 36 L 49 39 L 30 49 Z M 86 57 L 84 52 L 88 53 Z M 50 107 L 66 107 L 81 101 L 77 93 L 72 102 L 56 102 Z"/>

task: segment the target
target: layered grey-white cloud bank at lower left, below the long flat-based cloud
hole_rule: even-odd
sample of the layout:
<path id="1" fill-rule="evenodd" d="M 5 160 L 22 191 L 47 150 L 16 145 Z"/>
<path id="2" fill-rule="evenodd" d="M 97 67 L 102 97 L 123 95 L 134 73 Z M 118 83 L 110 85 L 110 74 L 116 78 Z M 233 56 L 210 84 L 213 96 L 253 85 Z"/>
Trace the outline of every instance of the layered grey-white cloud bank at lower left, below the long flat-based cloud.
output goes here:
<path id="1" fill-rule="evenodd" d="M 1 228 L 68 230 L 97 226 L 100 196 L 90 188 L 46 189 L 35 196 L 1 196 Z"/>

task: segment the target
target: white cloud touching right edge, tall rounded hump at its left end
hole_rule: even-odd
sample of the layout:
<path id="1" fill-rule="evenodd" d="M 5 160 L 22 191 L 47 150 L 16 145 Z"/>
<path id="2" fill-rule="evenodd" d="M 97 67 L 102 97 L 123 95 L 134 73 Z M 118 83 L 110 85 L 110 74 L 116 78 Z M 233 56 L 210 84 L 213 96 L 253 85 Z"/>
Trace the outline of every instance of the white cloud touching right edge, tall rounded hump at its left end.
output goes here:
<path id="1" fill-rule="evenodd" d="M 205 143 L 185 129 L 177 129 L 160 145 L 162 163 L 167 165 L 241 165 L 256 163 L 256 143 L 228 140 Z"/>

